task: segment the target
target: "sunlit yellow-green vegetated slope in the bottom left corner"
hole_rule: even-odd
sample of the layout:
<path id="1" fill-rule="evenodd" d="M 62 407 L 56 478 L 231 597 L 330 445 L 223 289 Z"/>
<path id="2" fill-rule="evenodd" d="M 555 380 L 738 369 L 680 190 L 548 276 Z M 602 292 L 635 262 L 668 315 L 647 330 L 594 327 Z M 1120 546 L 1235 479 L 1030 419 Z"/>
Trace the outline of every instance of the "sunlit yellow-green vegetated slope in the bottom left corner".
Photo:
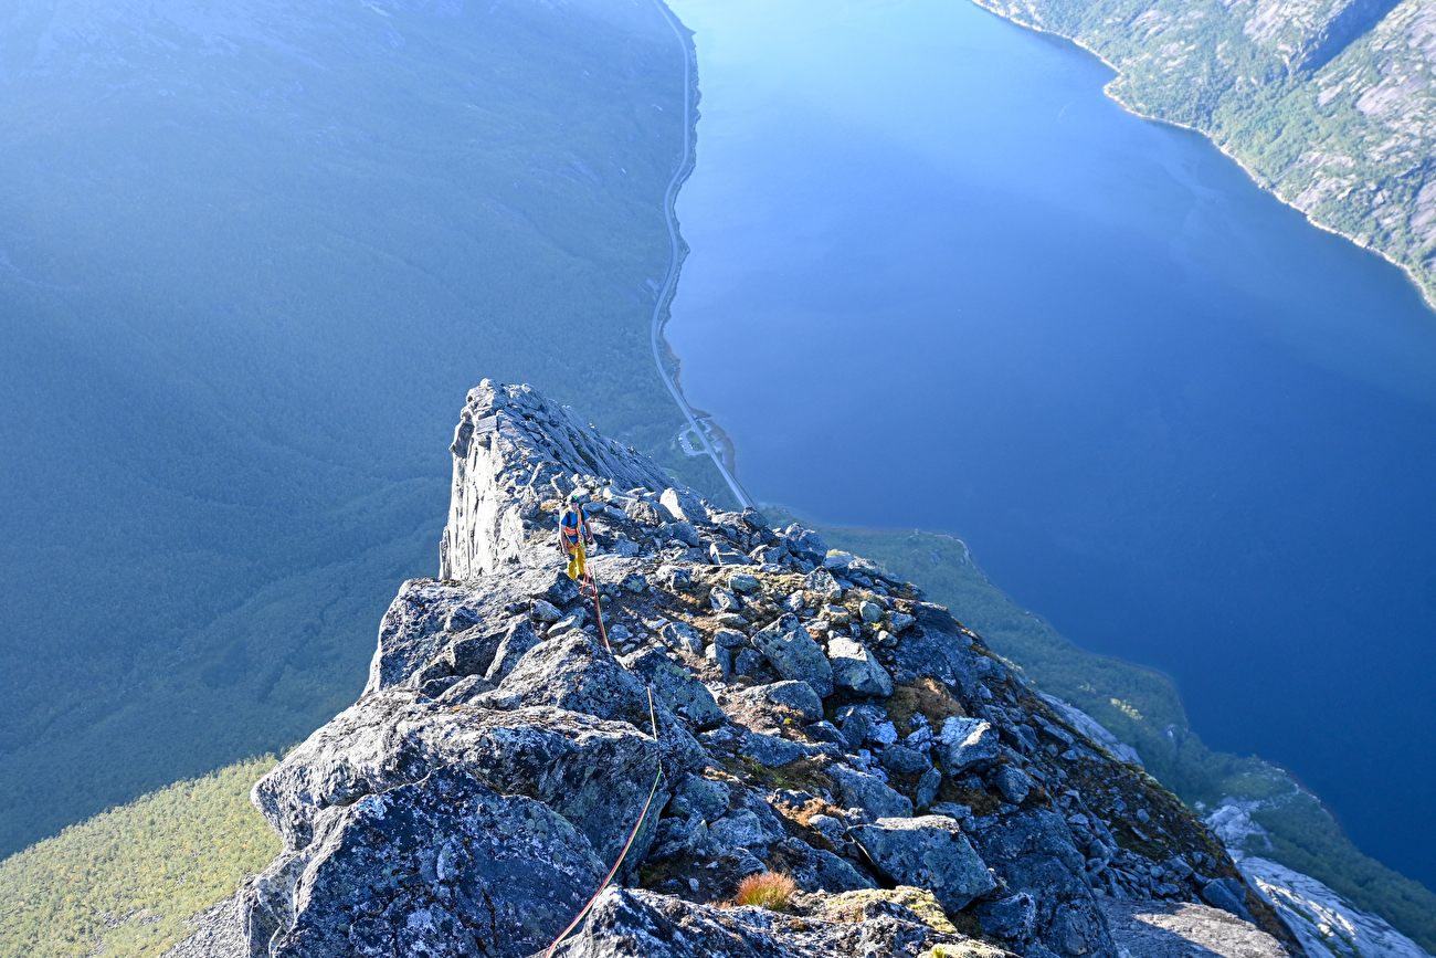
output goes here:
<path id="1" fill-rule="evenodd" d="M 279 837 L 248 801 L 250 758 L 73 824 L 0 863 L 0 958 L 158 955 L 185 919 L 269 865 Z"/>

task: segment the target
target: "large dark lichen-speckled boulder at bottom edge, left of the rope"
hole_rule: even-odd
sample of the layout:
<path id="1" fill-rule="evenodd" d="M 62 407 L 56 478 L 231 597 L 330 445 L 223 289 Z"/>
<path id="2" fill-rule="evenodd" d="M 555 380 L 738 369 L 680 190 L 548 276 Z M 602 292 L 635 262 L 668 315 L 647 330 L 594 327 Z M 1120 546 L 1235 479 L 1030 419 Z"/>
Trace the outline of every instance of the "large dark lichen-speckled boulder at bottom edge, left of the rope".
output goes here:
<path id="1" fill-rule="evenodd" d="M 247 954 L 526 958 L 605 868 L 556 811 L 457 770 L 332 807 L 314 842 L 240 890 Z"/>

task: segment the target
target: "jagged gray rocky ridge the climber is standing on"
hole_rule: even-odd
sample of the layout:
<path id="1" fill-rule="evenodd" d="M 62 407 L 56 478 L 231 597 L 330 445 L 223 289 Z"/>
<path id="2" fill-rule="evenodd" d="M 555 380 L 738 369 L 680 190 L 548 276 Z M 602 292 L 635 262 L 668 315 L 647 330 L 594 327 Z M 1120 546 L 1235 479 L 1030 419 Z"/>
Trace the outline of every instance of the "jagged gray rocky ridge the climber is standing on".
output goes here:
<path id="1" fill-rule="evenodd" d="M 363 697 L 256 786 L 284 850 L 174 954 L 520 958 L 610 869 L 557 954 L 1294 941 L 1215 833 L 910 583 L 527 386 L 472 391 L 452 451 L 445 577 L 404 583 Z M 574 490 L 596 595 L 553 544 Z M 727 906 L 764 872 L 785 911 Z"/>

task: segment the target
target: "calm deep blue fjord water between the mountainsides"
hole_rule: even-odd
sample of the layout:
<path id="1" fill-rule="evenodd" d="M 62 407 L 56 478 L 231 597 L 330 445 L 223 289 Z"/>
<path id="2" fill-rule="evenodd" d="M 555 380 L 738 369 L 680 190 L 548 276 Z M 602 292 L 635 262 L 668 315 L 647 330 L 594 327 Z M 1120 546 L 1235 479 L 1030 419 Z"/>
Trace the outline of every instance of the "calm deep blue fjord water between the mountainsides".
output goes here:
<path id="1" fill-rule="evenodd" d="M 958 0 L 676 0 L 668 338 L 757 498 L 961 534 L 1436 886 L 1436 313 L 1070 43 Z"/>

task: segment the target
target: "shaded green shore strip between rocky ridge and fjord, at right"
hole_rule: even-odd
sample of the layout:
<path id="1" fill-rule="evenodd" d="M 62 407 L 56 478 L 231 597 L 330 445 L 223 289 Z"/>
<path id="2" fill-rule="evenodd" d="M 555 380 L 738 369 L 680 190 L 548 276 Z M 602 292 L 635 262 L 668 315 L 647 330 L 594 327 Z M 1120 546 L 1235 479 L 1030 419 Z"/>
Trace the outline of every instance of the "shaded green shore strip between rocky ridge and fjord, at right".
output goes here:
<path id="1" fill-rule="evenodd" d="M 794 517 L 764 507 L 773 524 Z M 1160 672 L 1083 651 L 1008 599 L 972 562 L 962 540 L 941 533 L 827 529 L 834 549 L 872 559 L 919 585 L 982 635 L 1043 691 L 1083 710 L 1133 745 L 1163 786 L 1196 810 L 1223 797 L 1268 800 L 1252 817 L 1269 832 L 1249 849 L 1324 882 L 1436 951 L 1436 895 L 1361 855 L 1341 826 L 1287 774 L 1256 757 L 1209 750 L 1189 728 L 1182 698 Z M 1269 842 L 1269 846 L 1268 846 Z"/>

